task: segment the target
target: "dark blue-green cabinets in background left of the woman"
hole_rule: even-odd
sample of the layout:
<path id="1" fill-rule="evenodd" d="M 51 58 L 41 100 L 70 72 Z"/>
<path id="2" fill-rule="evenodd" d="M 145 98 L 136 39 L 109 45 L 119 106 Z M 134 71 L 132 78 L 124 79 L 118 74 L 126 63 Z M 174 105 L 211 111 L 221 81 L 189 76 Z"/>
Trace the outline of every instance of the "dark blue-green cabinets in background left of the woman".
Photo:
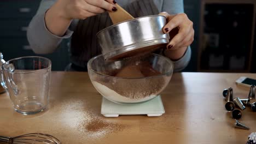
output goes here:
<path id="1" fill-rule="evenodd" d="M 38 9 L 38 0 L 2 0 L 0 2 L 0 51 L 5 61 L 23 56 L 43 56 L 51 59 L 52 70 L 65 70 L 69 63 L 69 40 L 49 55 L 37 55 L 28 44 L 26 31 Z"/>

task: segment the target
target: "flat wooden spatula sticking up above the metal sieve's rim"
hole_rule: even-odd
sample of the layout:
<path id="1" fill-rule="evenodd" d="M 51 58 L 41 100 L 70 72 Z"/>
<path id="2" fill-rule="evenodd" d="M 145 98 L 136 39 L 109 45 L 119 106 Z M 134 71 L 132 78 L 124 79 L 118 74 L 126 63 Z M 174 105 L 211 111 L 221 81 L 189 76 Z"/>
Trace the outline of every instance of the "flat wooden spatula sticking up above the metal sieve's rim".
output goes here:
<path id="1" fill-rule="evenodd" d="M 120 5 L 115 4 L 115 6 L 117 7 L 117 11 L 108 11 L 108 14 L 113 22 L 113 24 L 119 23 L 119 22 L 123 22 L 123 21 L 127 21 L 127 20 L 131 20 L 134 19 L 133 16 L 131 16 L 126 10 L 124 10 L 122 7 L 120 7 Z"/>

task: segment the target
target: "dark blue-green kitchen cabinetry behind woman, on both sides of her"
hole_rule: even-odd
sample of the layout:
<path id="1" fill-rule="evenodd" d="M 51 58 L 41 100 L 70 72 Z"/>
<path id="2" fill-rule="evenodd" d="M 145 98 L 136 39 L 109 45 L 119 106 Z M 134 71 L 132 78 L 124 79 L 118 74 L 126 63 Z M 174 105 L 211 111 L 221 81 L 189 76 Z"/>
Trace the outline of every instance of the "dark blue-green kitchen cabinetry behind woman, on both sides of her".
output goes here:
<path id="1" fill-rule="evenodd" d="M 184 11 L 189 19 L 194 22 L 195 37 L 191 44 L 192 56 L 187 68 L 183 71 L 197 71 L 198 52 L 200 50 L 200 19 L 202 0 L 184 0 Z M 229 1 L 229 0 L 225 0 Z M 51 59 L 53 70 L 64 70 L 69 63 L 68 43 L 63 40 L 60 47 L 49 55 L 36 55 L 28 45 L 26 29 L 38 9 L 40 0 L 2 0 L 0 2 L 0 51 L 4 59 L 9 60 L 22 56 L 43 56 Z M 255 41 L 255 38 L 254 38 Z M 255 44 L 252 55 L 251 72 L 256 72 Z"/>

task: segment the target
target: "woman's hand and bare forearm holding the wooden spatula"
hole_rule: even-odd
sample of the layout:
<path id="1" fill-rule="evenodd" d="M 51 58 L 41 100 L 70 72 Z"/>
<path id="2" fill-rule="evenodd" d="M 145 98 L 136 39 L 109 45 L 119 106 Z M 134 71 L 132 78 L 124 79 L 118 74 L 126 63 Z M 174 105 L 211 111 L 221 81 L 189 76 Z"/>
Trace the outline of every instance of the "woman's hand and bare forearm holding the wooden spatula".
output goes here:
<path id="1" fill-rule="evenodd" d="M 117 11 L 113 0 L 58 0 L 45 14 L 48 30 L 62 36 L 73 19 L 86 19 L 103 13 Z"/>

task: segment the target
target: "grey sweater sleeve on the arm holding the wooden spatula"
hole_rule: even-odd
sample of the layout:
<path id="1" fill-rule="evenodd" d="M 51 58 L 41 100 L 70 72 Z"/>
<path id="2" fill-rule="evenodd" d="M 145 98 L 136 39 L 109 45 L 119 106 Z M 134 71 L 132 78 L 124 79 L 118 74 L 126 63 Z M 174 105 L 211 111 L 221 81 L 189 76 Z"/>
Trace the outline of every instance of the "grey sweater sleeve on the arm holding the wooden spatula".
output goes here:
<path id="1" fill-rule="evenodd" d="M 55 3 L 55 0 L 42 0 L 37 11 L 28 26 L 27 39 L 35 53 L 46 54 L 56 50 L 62 39 L 70 38 L 72 31 L 67 30 L 65 35 L 58 37 L 52 34 L 45 26 L 44 16 L 46 10 Z"/>

